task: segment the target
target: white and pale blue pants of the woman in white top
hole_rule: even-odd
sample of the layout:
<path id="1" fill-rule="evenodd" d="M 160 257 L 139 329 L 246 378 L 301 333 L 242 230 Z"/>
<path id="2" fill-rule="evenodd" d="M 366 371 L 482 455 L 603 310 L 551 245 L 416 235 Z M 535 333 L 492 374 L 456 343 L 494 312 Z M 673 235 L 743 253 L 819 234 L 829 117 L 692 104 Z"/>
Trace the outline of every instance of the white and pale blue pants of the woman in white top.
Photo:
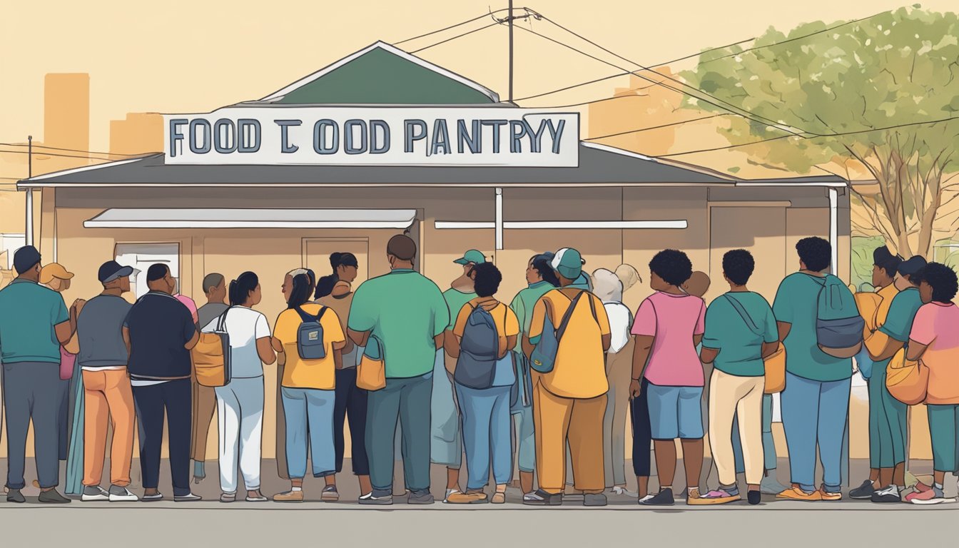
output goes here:
<path id="1" fill-rule="evenodd" d="M 263 377 L 235 378 L 217 387 L 217 422 L 220 426 L 220 488 L 237 490 L 237 467 L 247 490 L 260 488 L 260 455 L 263 442 Z M 239 462 L 238 462 L 239 461 Z"/>

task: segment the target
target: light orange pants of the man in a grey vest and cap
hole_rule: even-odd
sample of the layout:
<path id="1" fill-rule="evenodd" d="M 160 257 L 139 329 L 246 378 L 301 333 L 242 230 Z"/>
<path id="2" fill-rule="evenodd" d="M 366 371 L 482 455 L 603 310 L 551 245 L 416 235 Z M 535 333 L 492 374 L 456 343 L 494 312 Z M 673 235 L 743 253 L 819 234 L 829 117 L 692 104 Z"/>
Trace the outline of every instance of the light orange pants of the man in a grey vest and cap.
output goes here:
<path id="1" fill-rule="evenodd" d="M 99 486 L 104 475 L 107 425 L 113 426 L 110 484 L 129 486 L 135 414 L 127 369 L 83 371 L 83 485 Z"/>

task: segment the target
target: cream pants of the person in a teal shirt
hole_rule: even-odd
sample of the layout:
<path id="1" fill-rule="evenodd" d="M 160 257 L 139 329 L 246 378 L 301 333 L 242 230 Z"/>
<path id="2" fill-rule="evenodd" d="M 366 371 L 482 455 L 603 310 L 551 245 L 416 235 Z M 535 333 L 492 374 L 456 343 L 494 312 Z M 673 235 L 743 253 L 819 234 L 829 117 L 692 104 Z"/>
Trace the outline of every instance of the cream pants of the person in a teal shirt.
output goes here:
<path id="1" fill-rule="evenodd" d="M 710 379 L 710 449 L 719 472 L 719 483 L 736 485 L 733 455 L 733 418 L 739 422 L 739 441 L 746 483 L 762 481 L 762 391 L 764 377 L 740 377 L 713 369 Z"/>

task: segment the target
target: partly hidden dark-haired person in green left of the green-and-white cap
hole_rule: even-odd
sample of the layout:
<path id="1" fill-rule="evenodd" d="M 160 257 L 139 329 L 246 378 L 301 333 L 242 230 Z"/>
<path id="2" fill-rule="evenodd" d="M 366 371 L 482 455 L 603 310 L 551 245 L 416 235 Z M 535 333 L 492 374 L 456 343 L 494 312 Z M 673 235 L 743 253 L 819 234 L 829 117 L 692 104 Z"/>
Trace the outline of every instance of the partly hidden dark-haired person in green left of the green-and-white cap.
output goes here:
<path id="1" fill-rule="evenodd" d="M 523 360 L 517 379 L 517 389 L 520 397 L 513 406 L 513 429 L 516 441 L 516 462 L 520 470 L 520 485 L 524 495 L 533 492 L 533 476 L 536 469 L 536 438 L 533 434 L 533 393 L 532 379 L 539 373 L 529 369 L 529 356 L 523 349 L 523 338 L 529 335 L 529 324 L 532 322 L 533 309 L 536 301 L 559 287 L 559 279 L 550 266 L 553 254 L 550 251 L 533 255 L 526 264 L 526 289 L 520 290 L 509 304 L 509 308 L 516 314 L 520 322 L 521 333 L 517 337 L 513 351 Z M 515 482 L 514 482 L 515 483 Z"/>

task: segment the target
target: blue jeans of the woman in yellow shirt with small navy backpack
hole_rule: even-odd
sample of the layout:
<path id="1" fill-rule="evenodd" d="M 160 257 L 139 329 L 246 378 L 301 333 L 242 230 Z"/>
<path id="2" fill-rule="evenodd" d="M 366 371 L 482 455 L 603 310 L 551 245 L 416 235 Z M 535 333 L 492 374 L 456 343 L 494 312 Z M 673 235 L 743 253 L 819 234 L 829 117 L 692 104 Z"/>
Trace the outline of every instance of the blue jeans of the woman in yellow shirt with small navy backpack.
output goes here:
<path id="1" fill-rule="evenodd" d="M 291 479 L 306 475 L 307 442 L 313 453 L 313 475 L 337 470 L 333 438 L 336 391 L 283 387 L 283 415 L 287 418 L 287 469 Z"/>

